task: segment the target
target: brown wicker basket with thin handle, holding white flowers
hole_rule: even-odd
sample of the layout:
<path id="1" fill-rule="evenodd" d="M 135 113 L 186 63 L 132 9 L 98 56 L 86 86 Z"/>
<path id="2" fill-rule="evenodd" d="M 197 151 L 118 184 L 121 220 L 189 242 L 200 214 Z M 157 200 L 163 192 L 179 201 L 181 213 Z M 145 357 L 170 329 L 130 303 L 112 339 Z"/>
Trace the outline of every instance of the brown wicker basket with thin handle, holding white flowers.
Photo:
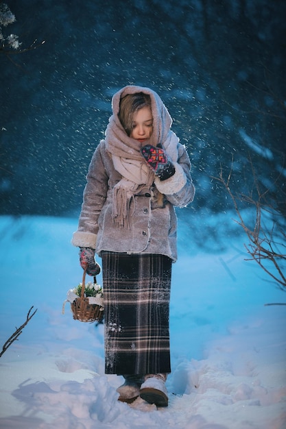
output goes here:
<path id="1" fill-rule="evenodd" d="M 73 319 L 86 322 L 101 322 L 104 318 L 104 310 L 97 304 L 89 304 L 88 298 L 84 297 L 86 269 L 82 276 L 82 292 L 80 297 L 71 302 L 71 311 L 73 312 Z M 96 278 L 94 278 L 96 283 Z"/>

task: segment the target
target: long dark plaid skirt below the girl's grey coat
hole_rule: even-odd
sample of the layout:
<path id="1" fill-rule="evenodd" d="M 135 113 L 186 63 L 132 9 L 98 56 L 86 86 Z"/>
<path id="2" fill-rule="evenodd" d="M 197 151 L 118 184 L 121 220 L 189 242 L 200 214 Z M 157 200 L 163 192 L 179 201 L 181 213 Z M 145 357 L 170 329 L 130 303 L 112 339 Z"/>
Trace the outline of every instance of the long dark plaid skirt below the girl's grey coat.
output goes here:
<path id="1" fill-rule="evenodd" d="M 169 373 L 171 259 L 102 252 L 107 374 Z"/>

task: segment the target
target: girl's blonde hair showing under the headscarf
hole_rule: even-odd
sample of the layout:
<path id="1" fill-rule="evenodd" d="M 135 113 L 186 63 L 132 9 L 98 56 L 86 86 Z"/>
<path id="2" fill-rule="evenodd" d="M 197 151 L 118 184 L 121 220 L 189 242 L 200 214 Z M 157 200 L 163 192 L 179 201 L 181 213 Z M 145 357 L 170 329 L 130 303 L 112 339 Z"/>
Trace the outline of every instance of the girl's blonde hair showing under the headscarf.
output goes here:
<path id="1" fill-rule="evenodd" d="M 128 94 L 121 98 L 118 117 L 128 136 L 130 136 L 132 131 L 134 113 L 144 107 L 149 107 L 151 109 L 151 98 L 148 94 Z"/>

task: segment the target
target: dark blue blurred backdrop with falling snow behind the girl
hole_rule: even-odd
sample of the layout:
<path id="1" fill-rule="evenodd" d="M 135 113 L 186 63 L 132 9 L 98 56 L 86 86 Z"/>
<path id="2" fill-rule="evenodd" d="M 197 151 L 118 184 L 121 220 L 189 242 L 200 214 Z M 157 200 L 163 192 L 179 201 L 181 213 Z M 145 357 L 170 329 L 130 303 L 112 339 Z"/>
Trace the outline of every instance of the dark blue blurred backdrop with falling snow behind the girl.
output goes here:
<path id="1" fill-rule="evenodd" d="M 252 191 L 251 159 L 285 210 L 285 1 L 7 3 L 16 23 L 3 33 L 38 46 L 0 51 L 1 214 L 78 215 L 111 97 L 126 84 L 156 90 L 174 118 L 193 162 L 189 210 L 231 206 L 213 176 L 232 159 L 235 192 Z"/>

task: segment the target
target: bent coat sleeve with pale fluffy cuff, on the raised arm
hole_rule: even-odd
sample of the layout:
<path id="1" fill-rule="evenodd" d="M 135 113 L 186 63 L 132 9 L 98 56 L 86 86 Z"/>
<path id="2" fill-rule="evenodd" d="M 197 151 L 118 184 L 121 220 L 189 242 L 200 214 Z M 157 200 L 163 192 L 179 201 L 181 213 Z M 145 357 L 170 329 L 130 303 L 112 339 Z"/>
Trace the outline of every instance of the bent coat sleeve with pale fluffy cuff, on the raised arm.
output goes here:
<path id="1" fill-rule="evenodd" d="M 167 180 L 155 178 L 155 185 L 160 193 L 176 207 L 185 207 L 193 201 L 195 186 L 191 178 L 191 162 L 186 148 L 178 144 L 178 162 L 174 162 L 175 174 Z"/>

